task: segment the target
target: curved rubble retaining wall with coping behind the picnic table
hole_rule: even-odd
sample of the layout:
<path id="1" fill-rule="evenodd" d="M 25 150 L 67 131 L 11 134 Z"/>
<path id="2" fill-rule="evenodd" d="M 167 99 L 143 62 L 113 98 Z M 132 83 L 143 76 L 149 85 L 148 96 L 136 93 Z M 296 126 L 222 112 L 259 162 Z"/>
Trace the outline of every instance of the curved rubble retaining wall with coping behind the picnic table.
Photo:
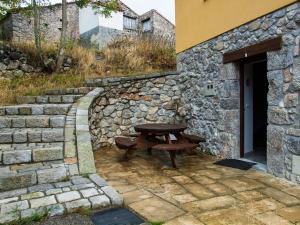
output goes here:
<path id="1" fill-rule="evenodd" d="M 114 144 L 114 137 L 135 133 L 141 123 L 185 122 L 176 73 L 91 80 L 105 91 L 90 109 L 93 149 Z"/>

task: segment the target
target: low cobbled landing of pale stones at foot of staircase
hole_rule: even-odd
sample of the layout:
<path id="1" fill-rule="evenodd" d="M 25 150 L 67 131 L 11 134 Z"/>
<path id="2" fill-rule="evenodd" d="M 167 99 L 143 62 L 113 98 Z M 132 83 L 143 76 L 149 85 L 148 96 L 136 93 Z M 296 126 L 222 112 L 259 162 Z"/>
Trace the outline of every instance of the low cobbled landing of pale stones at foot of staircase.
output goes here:
<path id="1" fill-rule="evenodd" d="M 65 182 L 1 192 L 0 224 L 43 214 L 46 211 L 48 216 L 52 217 L 81 209 L 94 210 L 122 205 L 122 197 L 100 176 L 73 176 Z"/>

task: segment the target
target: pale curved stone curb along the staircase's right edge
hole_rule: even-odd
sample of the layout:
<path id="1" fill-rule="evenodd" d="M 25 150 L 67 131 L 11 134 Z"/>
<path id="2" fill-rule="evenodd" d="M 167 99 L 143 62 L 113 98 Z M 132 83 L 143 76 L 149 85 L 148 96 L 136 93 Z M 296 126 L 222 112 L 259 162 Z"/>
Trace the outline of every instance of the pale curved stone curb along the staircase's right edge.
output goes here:
<path id="1" fill-rule="evenodd" d="M 76 111 L 76 144 L 80 174 L 96 173 L 92 138 L 89 131 L 89 108 L 103 91 L 103 88 L 96 88 L 78 100 Z"/>

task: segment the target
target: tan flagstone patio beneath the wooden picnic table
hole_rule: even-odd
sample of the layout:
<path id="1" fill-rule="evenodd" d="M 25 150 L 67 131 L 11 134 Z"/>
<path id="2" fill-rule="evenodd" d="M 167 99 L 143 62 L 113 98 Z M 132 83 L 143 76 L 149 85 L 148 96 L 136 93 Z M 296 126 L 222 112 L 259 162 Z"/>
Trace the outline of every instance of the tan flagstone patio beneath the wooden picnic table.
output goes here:
<path id="1" fill-rule="evenodd" d="M 97 173 L 117 189 L 126 207 L 165 225 L 300 225 L 300 186 L 250 169 L 214 165 L 212 156 L 139 152 L 121 162 L 116 148 L 95 153 Z"/>

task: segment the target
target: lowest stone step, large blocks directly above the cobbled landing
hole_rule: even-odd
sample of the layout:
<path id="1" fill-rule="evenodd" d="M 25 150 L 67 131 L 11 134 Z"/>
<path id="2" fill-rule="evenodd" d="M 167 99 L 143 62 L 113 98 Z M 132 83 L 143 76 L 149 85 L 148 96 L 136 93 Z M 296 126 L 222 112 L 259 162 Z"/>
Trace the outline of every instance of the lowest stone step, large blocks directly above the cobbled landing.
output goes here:
<path id="1" fill-rule="evenodd" d="M 18 166 L 15 166 L 18 168 Z M 23 168 L 22 168 L 23 167 Z M 41 163 L 25 164 L 15 169 L 14 166 L 0 167 L 0 192 L 27 188 L 33 185 L 48 185 L 49 183 L 64 181 L 68 178 L 64 164 Z M 40 187 L 36 187 L 40 188 Z M 26 190 L 26 189 L 25 189 Z M 38 191 L 38 190 L 37 190 Z"/>

